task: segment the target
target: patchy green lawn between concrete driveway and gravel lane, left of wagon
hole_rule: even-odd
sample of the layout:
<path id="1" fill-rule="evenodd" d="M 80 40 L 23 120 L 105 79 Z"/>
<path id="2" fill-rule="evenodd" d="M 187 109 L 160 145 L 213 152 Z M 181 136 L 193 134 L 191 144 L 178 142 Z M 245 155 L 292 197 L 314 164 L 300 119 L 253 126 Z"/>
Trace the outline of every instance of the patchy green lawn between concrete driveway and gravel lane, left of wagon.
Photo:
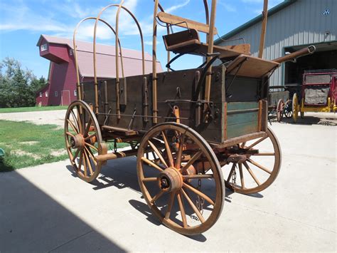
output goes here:
<path id="1" fill-rule="evenodd" d="M 117 148 L 127 145 L 117 143 Z M 57 125 L 0 120 L 0 148 L 5 151 L 0 172 L 68 159 L 64 131 Z"/>

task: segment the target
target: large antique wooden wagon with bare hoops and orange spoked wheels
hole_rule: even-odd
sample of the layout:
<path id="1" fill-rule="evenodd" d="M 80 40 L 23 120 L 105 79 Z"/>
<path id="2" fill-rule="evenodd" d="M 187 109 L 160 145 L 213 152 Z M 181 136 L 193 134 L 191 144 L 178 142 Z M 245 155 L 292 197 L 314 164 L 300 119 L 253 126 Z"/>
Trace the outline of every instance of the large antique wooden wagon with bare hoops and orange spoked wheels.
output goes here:
<path id="1" fill-rule="evenodd" d="M 215 224 L 223 209 L 225 186 L 244 194 L 260 192 L 274 182 L 281 165 L 279 143 L 267 127 L 268 80 L 279 63 L 250 56 L 249 44 L 213 46 L 216 1 L 211 2 L 210 12 L 207 1 L 203 3 L 205 24 L 167 14 L 154 1 L 149 74 L 141 27 L 123 1 L 105 7 L 97 18 L 87 18 L 95 19 L 95 78 L 82 83 L 77 71 L 78 100 L 69 105 L 65 118 L 66 148 L 77 175 L 91 182 L 107 160 L 137 155 L 139 186 L 151 212 L 181 234 L 199 234 Z M 117 8 L 114 29 L 100 18 L 110 7 Z M 120 11 L 131 15 L 139 29 L 141 76 L 123 76 Z M 115 62 L 116 78 L 100 80 L 96 75 L 98 22 L 116 35 L 115 55 L 120 56 Z M 205 57 L 205 63 L 158 73 L 159 22 L 167 28 L 166 50 L 177 54 L 170 60 L 168 53 L 168 68 L 186 53 Z M 173 26 L 185 30 L 173 33 Z M 205 43 L 200 42 L 200 32 L 207 35 Z M 217 58 L 222 64 L 213 66 Z M 111 151 L 109 143 L 114 147 Z M 117 143 L 128 143 L 129 150 L 118 151 Z"/>

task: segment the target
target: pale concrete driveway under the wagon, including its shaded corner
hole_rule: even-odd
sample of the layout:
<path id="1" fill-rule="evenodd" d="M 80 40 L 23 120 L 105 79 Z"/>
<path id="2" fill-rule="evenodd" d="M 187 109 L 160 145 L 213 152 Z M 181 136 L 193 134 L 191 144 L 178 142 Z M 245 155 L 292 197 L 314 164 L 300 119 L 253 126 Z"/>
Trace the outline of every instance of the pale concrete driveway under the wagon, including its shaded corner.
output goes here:
<path id="1" fill-rule="evenodd" d="M 0 252 L 335 252 L 337 129 L 312 118 L 272 124 L 277 180 L 256 195 L 227 190 L 218 222 L 195 237 L 151 215 L 135 158 L 109 161 L 94 184 L 68 161 L 1 173 Z"/>

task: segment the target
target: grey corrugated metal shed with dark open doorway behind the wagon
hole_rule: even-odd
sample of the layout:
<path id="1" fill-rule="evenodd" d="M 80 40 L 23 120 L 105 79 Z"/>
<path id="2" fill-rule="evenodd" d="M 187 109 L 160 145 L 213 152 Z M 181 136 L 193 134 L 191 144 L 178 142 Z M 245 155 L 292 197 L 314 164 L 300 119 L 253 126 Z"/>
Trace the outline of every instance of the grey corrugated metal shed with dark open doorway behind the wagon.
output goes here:
<path id="1" fill-rule="evenodd" d="M 261 7 L 262 8 L 262 7 Z M 304 70 L 337 68 L 337 1 L 285 0 L 269 9 L 263 58 L 272 60 L 309 45 L 313 55 L 283 63 L 270 78 L 270 86 L 301 83 Z M 237 27 L 215 41 L 228 46 L 244 38 L 253 56 L 258 55 L 262 15 Z M 230 40 L 230 41 L 224 41 Z"/>

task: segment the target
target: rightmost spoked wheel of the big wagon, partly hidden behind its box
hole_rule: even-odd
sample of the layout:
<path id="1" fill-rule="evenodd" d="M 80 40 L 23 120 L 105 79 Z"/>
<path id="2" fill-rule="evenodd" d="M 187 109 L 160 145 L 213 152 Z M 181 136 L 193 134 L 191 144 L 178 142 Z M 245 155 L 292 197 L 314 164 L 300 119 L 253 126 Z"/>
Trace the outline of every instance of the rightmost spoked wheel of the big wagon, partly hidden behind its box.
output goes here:
<path id="1" fill-rule="evenodd" d="M 240 161 L 230 162 L 224 173 L 226 187 L 235 192 L 260 192 L 269 187 L 279 174 L 281 149 L 269 128 L 264 137 L 240 143 L 229 151 L 240 155 Z"/>

